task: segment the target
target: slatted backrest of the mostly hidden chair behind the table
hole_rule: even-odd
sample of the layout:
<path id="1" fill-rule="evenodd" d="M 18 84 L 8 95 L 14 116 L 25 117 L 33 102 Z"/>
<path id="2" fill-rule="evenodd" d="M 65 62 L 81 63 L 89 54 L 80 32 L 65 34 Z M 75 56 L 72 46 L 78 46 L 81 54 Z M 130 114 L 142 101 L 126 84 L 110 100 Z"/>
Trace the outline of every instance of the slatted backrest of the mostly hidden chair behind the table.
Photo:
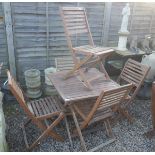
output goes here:
<path id="1" fill-rule="evenodd" d="M 55 66 L 57 71 L 71 70 L 74 66 L 72 57 L 55 58 Z"/>

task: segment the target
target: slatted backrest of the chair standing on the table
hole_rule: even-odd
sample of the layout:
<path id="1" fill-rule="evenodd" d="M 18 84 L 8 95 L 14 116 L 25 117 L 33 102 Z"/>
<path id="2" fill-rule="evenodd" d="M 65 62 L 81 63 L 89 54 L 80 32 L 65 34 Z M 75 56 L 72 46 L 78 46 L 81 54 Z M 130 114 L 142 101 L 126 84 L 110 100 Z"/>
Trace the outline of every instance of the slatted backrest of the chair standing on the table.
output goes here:
<path id="1" fill-rule="evenodd" d="M 92 34 L 88 25 L 86 11 L 83 7 L 62 7 L 60 14 L 63 20 L 68 46 L 72 49 L 72 36 L 86 33 L 89 44 L 94 45 Z"/>

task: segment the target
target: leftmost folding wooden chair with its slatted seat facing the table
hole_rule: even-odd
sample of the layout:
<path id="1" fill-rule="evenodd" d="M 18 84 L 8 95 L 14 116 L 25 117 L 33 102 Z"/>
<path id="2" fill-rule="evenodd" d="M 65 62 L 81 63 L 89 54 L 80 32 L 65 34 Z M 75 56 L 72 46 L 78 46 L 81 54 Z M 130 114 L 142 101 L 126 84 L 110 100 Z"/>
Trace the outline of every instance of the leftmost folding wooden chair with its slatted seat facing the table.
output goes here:
<path id="1" fill-rule="evenodd" d="M 40 140 L 42 140 L 46 136 L 51 136 L 52 138 L 55 138 L 58 141 L 63 141 L 63 138 L 53 130 L 53 128 L 57 126 L 60 123 L 60 121 L 65 118 L 64 108 L 60 103 L 58 97 L 57 96 L 46 97 L 26 103 L 21 88 L 18 86 L 18 84 L 11 76 L 9 71 L 7 71 L 7 75 L 8 75 L 8 85 L 12 94 L 16 97 L 18 103 L 29 117 L 28 122 L 26 122 L 25 124 L 22 123 L 21 125 L 26 148 L 28 150 L 33 149 L 40 142 Z M 51 120 L 53 122 L 49 124 Z M 28 125 L 31 121 L 36 126 L 38 126 L 38 128 L 43 130 L 43 132 L 37 140 L 35 140 L 31 145 L 29 145 L 26 137 L 25 126 Z M 65 122 L 67 132 L 68 134 L 70 134 L 66 119 Z M 70 137 L 70 135 L 68 136 Z"/>

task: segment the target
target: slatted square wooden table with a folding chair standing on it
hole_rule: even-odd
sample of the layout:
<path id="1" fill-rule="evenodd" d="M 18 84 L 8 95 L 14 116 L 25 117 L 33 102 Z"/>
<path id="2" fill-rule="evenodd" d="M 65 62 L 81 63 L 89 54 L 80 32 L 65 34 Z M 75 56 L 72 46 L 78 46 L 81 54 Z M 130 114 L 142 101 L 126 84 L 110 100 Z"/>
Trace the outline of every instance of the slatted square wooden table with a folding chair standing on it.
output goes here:
<path id="1" fill-rule="evenodd" d="M 91 68 L 85 73 L 85 76 L 87 77 L 93 77 L 93 75 L 101 75 L 100 78 L 91 81 L 91 85 L 93 88 L 91 90 L 87 89 L 87 87 L 83 85 L 83 82 L 80 80 L 80 76 L 78 75 L 74 75 L 68 79 L 64 79 L 66 73 L 67 71 L 60 71 L 52 73 L 48 77 L 58 91 L 61 98 L 64 100 L 65 106 L 69 107 L 78 131 L 79 124 L 75 115 L 74 108 L 72 107 L 75 101 L 97 98 L 100 95 L 101 91 L 118 88 L 120 87 L 120 85 L 111 79 L 107 80 L 105 74 L 101 73 L 96 68 Z M 78 135 L 81 139 L 81 142 L 84 143 L 81 132 L 78 132 Z M 84 150 L 86 151 L 86 148 L 84 148 Z"/>

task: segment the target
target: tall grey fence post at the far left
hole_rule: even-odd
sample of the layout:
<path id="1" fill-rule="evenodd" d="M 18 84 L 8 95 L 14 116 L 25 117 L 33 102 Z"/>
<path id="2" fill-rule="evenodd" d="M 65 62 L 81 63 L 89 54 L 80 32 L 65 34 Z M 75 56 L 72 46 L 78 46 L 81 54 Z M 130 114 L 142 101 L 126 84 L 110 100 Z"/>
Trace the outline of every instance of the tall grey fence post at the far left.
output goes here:
<path id="1" fill-rule="evenodd" d="M 6 26 L 6 38 L 8 46 L 10 72 L 16 79 L 15 50 L 13 43 L 13 30 L 12 30 L 12 18 L 11 18 L 11 3 L 3 2 L 3 8 L 4 8 L 4 19 Z"/>

